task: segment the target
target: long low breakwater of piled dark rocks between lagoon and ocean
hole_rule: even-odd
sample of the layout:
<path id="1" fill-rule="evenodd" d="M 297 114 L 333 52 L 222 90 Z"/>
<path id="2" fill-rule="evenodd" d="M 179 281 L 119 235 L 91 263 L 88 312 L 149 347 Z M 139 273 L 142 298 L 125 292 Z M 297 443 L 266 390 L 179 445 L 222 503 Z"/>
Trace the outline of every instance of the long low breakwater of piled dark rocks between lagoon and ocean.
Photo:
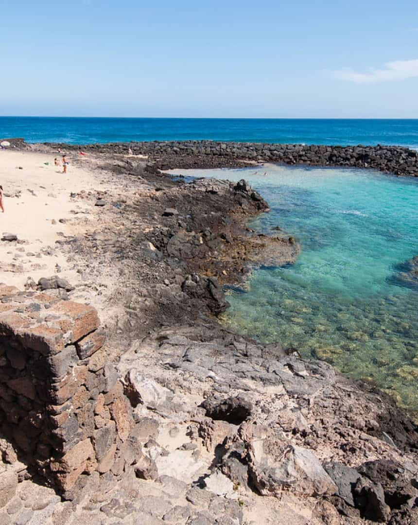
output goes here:
<path id="1" fill-rule="evenodd" d="M 75 151 L 68 144 L 47 144 Z M 96 153 L 147 155 L 162 170 L 245 166 L 248 162 L 362 167 L 401 176 L 418 176 L 418 151 L 401 146 L 325 146 L 215 141 L 130 142 L 83 145 Z"/>

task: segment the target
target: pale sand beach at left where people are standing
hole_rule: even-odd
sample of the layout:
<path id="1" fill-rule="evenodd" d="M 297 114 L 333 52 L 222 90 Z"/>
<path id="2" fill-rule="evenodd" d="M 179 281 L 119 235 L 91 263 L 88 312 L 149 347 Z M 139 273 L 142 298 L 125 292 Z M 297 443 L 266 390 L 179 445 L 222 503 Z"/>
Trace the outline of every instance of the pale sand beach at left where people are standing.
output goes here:
<path id="1" fill-rule="evenodd" d="M 86 211 L 86 205 L 72 199 L 70 193 L 93 190 L 95 179 L 87 169 L 72 165 L 71 157 L 69 161 L 65 175 L 61 165 L 54 166 L 54 155 L 0 151 L 0 184 L 5 194 L 5 213 L 0 212 L 0 234 L 16 234 L 19 240 L 25 241 L 19 244 L 0 240 L 0 282 L 23 290 L 29 276 L 37 281 L 40 277 L 54 275 L 56 265 L 62 269 L 61 277 L 71 283 L 79 280 L 55 241 L 62 239 L 59 232 L 64 235 L 80 232 L 80 226 L 75 225 L 80 215 L 71 211 Z M 59 223 L 59 219 L 65 219 L 66 223 Z M 48 247 L 50 255 L 43 253 Z"/>

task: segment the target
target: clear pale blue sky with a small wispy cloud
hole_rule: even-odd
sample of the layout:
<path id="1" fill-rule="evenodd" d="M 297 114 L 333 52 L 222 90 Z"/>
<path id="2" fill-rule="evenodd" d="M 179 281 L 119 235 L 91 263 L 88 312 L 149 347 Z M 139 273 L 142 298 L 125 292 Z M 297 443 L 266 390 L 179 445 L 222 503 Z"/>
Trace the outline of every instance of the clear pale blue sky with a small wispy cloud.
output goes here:
<path id="1" fill-rule="evenodd" d="M 23 0 L 0 115 L 418 118 L 416 0 Z"/>

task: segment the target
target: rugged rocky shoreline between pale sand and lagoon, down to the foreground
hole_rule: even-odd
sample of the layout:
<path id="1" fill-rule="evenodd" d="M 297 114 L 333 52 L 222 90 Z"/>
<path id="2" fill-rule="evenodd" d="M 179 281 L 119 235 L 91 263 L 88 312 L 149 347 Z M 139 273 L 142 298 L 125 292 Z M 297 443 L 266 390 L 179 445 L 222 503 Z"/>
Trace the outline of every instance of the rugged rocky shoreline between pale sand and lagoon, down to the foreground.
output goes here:
<path id="1" fill-rule="evenodd" d="M 245 181 L 185 184 L 158 168 L 248 165 L 249 155 L 131 146 L 144 160 L 122 157 L 125 147 L 83 146 L 95 150 L 88 162 L 102 182 L 71 198 L 98 220 L 56 248 L 82 276 L 69 298 L 102 305 L 104 352 L 129 397 L 147 468 L 133 478 L 82 472 L 69 500 L 49 496 L 43 522 L 417 523 L 418 432 L 391 398 L 216 321 L 227 307 L 223 283 L 243 285 L 265 260 L 292 262 L 299 246 L 289 234 L 246 228 L 268 204 Z M 35 484 L 24 482 L 32 493 Z M 9 507 L 1 519 L 15 523 Z"/>

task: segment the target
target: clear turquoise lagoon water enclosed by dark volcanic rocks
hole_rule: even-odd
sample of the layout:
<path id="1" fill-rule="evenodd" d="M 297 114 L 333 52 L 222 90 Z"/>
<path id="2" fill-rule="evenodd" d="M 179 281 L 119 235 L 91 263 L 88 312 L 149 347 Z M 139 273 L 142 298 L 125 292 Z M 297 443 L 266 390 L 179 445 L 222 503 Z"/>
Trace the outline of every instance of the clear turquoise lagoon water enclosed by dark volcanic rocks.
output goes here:
<path id="1" fill-rule="evenodd" d="M 294 265 L 256 269 L 249 291 L 228 290 L 222 322 L 373 380 L 418 413 L 418 290 L 396 281 L 418 255 L 418 182 L 276 165 L 182 173 L 245 178 L 271 208 L 250 226 L 280 226 L 302 245 Z"/>

